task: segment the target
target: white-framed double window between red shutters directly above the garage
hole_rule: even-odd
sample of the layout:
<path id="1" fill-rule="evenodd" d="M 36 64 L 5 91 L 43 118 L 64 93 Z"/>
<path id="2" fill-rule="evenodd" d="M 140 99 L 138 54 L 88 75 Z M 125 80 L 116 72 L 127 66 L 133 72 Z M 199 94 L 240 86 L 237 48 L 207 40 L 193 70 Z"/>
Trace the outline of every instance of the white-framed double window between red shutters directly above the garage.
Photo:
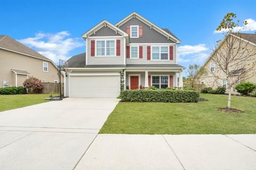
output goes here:
<path id="1" fill-rule="evenodd" d="M 115 55 L 115 40 L 97 40 L 97 56 Z"/>

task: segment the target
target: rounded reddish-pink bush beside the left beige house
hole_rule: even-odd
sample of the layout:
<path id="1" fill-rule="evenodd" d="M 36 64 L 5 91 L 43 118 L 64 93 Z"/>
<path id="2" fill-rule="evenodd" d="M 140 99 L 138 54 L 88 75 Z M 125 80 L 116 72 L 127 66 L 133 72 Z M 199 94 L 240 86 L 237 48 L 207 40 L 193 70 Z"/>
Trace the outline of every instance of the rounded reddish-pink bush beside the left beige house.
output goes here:
<path id="1" fill-rule="evenodd" d="M 35 78 L 35 77 L 30 77 L 26 79 L 23 82 L 23 86 L 25 89 L 28 89 L 29 93 L 34 93 L 34 92 L 39 92 L 40 89 L 43 89 L 43 83 L 41 80 Z"/>

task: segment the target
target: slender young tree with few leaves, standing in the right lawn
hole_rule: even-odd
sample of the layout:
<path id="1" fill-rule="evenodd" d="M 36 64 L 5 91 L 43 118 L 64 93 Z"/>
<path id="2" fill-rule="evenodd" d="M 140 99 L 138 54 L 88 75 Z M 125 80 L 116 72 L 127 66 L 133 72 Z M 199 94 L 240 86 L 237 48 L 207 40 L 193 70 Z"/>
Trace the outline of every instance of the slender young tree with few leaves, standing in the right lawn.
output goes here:
<path id="1" fill-rule="evenodd" d="M 218 84 L 220 80 L 226 80 L 228 109 L 231 107 L 231 88 L 241 81 L 250 79 L 256 73 L 255 46 L 252 47 L 249 41 L 244 41 L 242 34 L 239 33 L 244 27 L 240 27 L 239 20 L 234 21 L 235 18 L 235 13 L 227 13 L 216 29 L 223 31 L 225 38 L 217 41 L 215 45 L 211 57 L 214 71 L 209 71 L 210 77 L 214 78 L 213 83 Z M 247 24 L 246 21 L 243 23 Z"/>

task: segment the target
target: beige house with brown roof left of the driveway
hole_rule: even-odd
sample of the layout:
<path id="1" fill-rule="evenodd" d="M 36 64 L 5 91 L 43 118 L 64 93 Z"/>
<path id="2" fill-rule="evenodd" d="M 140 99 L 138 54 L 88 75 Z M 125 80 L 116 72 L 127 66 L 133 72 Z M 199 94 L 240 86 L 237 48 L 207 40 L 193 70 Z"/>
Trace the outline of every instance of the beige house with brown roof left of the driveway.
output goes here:
<path id="1" fill-rule="evenodd" d="M 23 86 L 31 76 L 59 82 L 57 66 L 51 60 L 9 36 L 0 36 L 0 65 L 0 87 Z"/>

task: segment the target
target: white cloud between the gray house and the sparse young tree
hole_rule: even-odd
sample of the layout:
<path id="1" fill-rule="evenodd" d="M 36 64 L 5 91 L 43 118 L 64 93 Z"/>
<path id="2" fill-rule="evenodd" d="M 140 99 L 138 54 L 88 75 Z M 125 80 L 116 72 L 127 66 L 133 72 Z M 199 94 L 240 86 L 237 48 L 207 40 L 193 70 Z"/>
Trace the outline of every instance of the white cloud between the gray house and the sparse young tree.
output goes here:
<path id="1" fill-rule="evenodd" d="M 209 50 L 205 44 L 198 45 L 184 45 L 178 47 L 179 62 L 202 62 L 207 58 L 208 54 L 205 53 Z"/>

